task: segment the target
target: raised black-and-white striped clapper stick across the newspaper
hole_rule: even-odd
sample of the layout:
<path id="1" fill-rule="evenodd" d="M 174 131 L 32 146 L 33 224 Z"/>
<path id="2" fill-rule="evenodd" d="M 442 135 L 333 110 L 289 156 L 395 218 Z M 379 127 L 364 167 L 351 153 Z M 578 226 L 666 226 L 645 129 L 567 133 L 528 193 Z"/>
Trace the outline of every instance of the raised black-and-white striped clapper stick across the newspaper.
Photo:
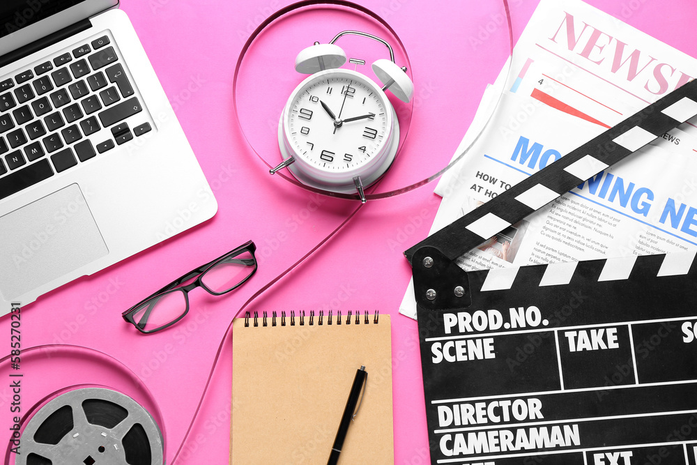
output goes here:
<path id="1" fill-rule="evenodd" d="M 413 265 L 415 252 L 429 246 L 454 261 L 695 115 L 694 80 L 475 208 L 406 250 L 404 255 Z"/>

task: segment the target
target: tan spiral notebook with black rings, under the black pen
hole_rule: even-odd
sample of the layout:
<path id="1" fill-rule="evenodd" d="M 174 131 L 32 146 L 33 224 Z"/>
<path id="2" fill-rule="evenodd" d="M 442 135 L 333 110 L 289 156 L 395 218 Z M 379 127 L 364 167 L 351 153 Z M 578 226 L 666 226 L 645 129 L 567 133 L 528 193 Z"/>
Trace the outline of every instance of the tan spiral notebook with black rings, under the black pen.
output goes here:
<path id="1" fill-rule="evenodd" d="M 389 315 L 263 312 L 234 321 L 232 341 L 230 464 L 325 464 L 361 365 L 339 463 L 394 463 Z"/>

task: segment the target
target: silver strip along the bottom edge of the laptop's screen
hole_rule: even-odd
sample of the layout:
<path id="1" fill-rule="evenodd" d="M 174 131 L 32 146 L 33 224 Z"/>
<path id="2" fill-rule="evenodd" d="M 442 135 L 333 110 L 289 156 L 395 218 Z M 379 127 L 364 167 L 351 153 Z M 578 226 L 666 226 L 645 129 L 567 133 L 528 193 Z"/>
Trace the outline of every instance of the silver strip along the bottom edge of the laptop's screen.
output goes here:
<path id="1" fill-rule="evenodd" d="M 116 8 L 118 7 L 118 2 L 119 0 L 85 0 L 79 3 L 79 5 L 71 6 L 44 20 L 30 24 L 8 36 L 0 38 L 0 56 L 13 52 L 56 31 L 60 31 L 70 26 L 70 24 L 86 20 L 110 8 Z"/>

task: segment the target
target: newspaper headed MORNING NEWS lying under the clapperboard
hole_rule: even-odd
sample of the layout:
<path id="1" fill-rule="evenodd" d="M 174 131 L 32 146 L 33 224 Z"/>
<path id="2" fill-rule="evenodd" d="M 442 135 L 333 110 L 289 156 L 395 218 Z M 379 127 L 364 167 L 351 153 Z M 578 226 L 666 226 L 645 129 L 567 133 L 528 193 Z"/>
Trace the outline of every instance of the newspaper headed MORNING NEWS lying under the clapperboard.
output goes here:
<path id="1" fill-rule="evenodd" d="M 516 44 L 496 114 L 436 188 L 443 201 L 431 232 L 695 76 L 696 59 L 610 15 L 578 0 L 542 0 Z M 681 250 L 697 250 L 697 121 L 601 171 L 458 264 L 473 270 Z M 410 283 L 400 312 L 415 318 L 415 308 Z"/>

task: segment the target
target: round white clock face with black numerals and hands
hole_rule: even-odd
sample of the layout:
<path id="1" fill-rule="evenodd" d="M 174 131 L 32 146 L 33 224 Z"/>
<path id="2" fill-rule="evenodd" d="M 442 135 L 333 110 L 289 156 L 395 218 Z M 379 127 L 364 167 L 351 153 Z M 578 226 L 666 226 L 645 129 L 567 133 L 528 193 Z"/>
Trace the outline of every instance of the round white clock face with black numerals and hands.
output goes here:
<path id="1" fill-rule="evenodd" d="M 289 152 L 328 178 L 379 163 L 392 145 L 394 114 L 385 93 L 350 70 L 307 78 L 293 92 L 282 118 Z"/>

